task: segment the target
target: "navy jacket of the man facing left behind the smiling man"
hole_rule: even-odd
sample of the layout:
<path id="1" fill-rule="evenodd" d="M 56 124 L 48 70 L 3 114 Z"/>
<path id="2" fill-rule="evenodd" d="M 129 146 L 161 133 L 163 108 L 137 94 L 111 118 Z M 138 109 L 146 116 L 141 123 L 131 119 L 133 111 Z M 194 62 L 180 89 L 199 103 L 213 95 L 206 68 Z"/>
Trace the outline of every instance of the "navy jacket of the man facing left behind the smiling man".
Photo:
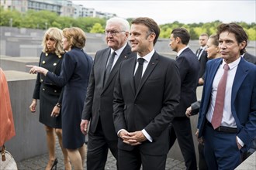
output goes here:
<path id="1" fill-rule="evenodd" d="M 196 101 L 199 60 L 191 49 L 185 49 L 176 59 L 181 76 L 182 89 L 180 104 L 175 110 L 175 117 L 185 117 L 185 110 Z"/>

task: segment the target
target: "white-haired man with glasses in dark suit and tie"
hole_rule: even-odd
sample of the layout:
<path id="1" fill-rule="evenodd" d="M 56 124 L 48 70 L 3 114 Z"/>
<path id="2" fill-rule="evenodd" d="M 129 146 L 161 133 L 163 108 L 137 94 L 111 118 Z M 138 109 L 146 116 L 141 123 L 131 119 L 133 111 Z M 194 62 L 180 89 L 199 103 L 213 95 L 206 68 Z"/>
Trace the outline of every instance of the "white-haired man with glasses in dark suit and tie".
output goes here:
<path id="1" fill-rule="evenodd" d="M 135 55 L 131 53 L 127 44 L 129 31 L 130 24 L 125 19 L 109 19 L 105 31 L 109 47 L 95 54 L 81 121 L 81 131 L 85 135 L 88 133 L 88 170 L 103 170 L 109 149 L 117 159 L 117 136 L 112 120 L 112 100 L 119 64 Z"/>

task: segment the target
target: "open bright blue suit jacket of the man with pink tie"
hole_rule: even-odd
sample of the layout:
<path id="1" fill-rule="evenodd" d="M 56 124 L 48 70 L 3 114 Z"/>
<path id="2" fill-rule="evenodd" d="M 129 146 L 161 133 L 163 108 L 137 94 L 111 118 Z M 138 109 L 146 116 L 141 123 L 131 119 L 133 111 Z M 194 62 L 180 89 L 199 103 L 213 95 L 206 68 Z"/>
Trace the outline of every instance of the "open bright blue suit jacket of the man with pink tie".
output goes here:
<path id="1" fill-rule="evenodd" d="M 206 64 L 206 80 L 203 85 L 199 111 L 199 138 L 206 126 L 206 114 L 211 100 L 213 79 L 223 59 L 211 59 Z M 238 138 L 250 146 L 256 131 L 256 66 L 241 58 L 237 66 L 231 92 L 231 110 L 237 124 Z"/>

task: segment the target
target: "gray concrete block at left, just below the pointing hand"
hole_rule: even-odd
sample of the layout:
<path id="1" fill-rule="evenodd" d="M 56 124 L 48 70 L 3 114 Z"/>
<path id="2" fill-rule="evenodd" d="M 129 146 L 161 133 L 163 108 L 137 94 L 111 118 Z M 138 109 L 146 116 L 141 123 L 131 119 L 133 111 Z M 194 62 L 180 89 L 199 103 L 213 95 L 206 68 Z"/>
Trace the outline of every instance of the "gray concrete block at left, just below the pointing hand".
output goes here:
<path id="1" fill-rule="evenodd" d="M 16 136 L 5 143 L 17 162 L 47 153 L 46 134 L 36 113 L 29 111 L 36 75 L 19 71 L 5 71 L 12 103 Z M 38 104 L 39 105 L 39 104 Z"/>

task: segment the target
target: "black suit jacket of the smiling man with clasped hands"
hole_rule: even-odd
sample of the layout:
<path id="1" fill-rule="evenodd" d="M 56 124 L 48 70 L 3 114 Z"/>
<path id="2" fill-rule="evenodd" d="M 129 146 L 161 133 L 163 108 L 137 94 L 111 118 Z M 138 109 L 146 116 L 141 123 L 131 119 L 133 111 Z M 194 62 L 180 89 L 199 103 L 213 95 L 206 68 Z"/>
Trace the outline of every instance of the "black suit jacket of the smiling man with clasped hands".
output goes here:
<path id="1" fill-rule="evenodd" d="M 165 155 L 168 153 L 168 124 L 174 117 L 180 97 L 178 65 L 175 60 L 155 52 L 135 93 L 136 62 L 137 57 L 127 59 L 119 68 L 113 102 L 116 132 L 145 129 L 153 142 L 144 141 L 135 147 L 144 154 Z M 119 138 L 119 149 L 131 151 L 135 147 L 126 145 Z"/>

